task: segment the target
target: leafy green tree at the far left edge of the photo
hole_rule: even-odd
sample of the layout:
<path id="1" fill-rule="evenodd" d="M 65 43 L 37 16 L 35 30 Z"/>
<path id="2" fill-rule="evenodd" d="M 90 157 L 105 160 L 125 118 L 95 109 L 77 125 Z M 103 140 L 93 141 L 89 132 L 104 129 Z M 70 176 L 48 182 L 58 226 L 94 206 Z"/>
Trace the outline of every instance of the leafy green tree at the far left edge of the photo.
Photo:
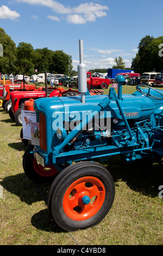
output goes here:
<path id="1" fill-rule="evenodd" d="M 10 36 L 0 28 L 0 44 L 3 46 L 3 54 L 0 57 L 0 72 L 2 74 L 14 74 L 16 61 L 16 45 Z"/>

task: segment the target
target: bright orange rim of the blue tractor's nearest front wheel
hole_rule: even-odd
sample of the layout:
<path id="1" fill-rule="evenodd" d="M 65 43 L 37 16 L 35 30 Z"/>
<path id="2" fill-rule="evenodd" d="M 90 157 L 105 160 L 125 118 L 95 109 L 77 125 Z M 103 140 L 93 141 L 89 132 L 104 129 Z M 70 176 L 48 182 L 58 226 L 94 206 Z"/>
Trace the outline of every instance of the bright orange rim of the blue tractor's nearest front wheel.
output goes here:
<path id="1" fill-rule="evenodd" d="M 85 204 L 84 198 L 90 202 Z M 74 221 L 84 221 L 95 215 L 101 209 L 105 199 L 105 188 L 101 180 L 86 176 L 74 181 L 68 187 L 63 208 L 65 214 Z"/>

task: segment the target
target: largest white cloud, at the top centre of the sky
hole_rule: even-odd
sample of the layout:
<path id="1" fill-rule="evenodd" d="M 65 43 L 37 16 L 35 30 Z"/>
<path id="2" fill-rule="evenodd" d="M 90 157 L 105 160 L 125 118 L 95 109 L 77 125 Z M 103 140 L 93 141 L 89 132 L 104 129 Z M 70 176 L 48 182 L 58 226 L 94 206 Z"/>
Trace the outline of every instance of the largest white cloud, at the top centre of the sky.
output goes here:
<path id="1" fill-rule="evenodd" d="M 85 24 L 95 22 L 97 18 L 106 16 L 108 6 L 96 3 L 79 4 L 77 7 L 68 7 L 54 0 L 17 0 L 18 2 L 43 5 L 51 8 L 55 13 L 66 14 L 67 22 L 74 24 Z"/>

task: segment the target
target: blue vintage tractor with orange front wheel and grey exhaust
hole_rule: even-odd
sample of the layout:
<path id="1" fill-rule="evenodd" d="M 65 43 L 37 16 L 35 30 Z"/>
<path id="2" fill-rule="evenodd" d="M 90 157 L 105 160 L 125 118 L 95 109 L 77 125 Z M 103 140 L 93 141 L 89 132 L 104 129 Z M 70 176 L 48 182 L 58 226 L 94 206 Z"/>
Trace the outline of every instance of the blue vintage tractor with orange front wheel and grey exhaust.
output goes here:
<path id="1" fill-rule="evenodd" d="M 29 145 L 23 156 L 29 179 L 53 179 L 48 209 L 68 231 L 101 222 L 114 202 L 114 181 L 100 162 L 115 155 L 127 162 L 158 161 L 163 155 L 162 90 L 136 86 L 135 93 L 123 95 L 120 75 L 117 94 L 110 88 L 109 95 L 86 95 L 79 42 L 81 95 L 34 101 L 40 145 Z"/>

